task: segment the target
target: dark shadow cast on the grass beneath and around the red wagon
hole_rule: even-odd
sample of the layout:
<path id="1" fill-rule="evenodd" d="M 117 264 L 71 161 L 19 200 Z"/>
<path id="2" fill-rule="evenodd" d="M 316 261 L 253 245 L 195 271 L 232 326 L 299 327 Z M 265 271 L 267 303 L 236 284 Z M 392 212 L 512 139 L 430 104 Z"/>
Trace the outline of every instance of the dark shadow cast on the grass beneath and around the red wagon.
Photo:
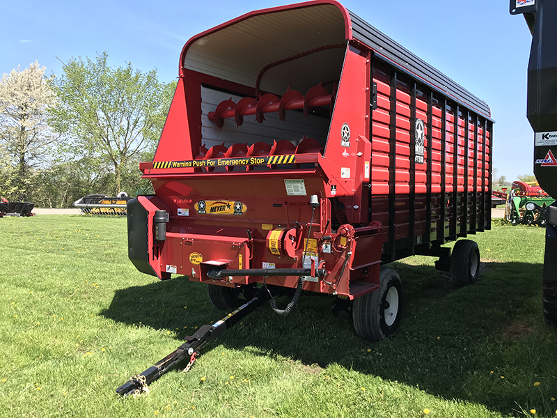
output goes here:
<path id="1" fill-rule="evenodd" d="M 304 295 L 290 316 L 264 305 L 203 350 L 253 346 L 261 355 L 323 368 L 336 363 L 503 413 L 516 413 L 517 404 L 539 408 L 540 402 L 554 413 L 556 405 L 547 400 L 557 397 L 557 338 L 542 324 L 542 265 L 482 267 L 477 284 L 457 288 L 432 266 L 393 263 L 402 278 L 404 311 L 398 332 L 379 343 L 360 339 L 350 317 L 333 316 L 332 297 Z M 205 286 L 187 277 L 118 291 L 102 315 L 172 330 L 180 340 L 224 316 L 208 301 Z M 543 385 L 533 387 L 536 380 Z M 544 415 L 540 408 L 538 415 Z"/>

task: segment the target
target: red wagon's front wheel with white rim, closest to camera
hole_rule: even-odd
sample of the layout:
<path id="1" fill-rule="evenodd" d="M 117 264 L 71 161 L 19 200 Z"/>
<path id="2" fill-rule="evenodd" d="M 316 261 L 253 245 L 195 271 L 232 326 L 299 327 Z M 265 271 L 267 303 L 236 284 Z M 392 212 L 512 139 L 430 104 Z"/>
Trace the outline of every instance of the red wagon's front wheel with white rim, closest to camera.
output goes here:
<path id="1" fill-rule="evenodd" d="M 370 341 L 381 341 L 393 334 L 400 324 L 402 311 L 402 281 L 398 273 L 383 269 L 379 280 L 381 286 L 377 291 L 357 297 L 352 304 L 354 330 Z"/>

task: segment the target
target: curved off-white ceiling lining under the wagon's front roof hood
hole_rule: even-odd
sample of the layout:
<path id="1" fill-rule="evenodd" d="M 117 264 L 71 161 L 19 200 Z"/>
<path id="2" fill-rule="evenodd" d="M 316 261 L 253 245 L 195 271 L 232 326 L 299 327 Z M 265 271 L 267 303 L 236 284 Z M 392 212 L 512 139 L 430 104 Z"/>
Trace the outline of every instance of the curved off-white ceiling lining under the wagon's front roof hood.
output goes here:
<path id="1" fill-rule="evenodd" d="M 280 10 L 240 20 L 189 45 L 184 68 L 255 87 L 266 65 L 345 43 L 345 21 L 331 4 Z"/>

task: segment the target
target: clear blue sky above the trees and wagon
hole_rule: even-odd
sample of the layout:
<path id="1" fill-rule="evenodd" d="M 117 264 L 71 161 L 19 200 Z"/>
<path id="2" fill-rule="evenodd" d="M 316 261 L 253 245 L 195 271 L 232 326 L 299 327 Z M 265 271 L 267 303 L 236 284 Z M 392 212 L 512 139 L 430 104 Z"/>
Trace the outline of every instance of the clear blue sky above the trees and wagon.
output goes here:
<path id="1" fill-rule="evenodd" d="M 36 60 L 47 74 L 60 74 L 59 60 L 106 51 L 111 65 L 157 68 L 159 79 L 170 82 L 191 36 L 251 10 L 294 2 L 8 1 L 0 15 L 0 74 Z M 499 176 L 533 173 L 526 120 L 531 35 L 522 16 L 509 14 L 508 0 L 340 2 L 489 104 Z"/>

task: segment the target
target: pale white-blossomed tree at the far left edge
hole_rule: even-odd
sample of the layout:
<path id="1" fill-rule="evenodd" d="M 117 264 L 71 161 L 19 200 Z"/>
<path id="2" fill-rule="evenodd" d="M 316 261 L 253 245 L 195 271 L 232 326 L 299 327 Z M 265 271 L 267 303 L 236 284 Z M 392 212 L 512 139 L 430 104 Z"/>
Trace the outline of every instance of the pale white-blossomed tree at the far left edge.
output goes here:
<path id="1" fill-rule="evenodd" d="M 0 193 L 10 199 L 30 200 L 32 178 L 58 138 L 48 123 L 56 95 L 45 70 L 35 61 L 0 81 Z"/>

